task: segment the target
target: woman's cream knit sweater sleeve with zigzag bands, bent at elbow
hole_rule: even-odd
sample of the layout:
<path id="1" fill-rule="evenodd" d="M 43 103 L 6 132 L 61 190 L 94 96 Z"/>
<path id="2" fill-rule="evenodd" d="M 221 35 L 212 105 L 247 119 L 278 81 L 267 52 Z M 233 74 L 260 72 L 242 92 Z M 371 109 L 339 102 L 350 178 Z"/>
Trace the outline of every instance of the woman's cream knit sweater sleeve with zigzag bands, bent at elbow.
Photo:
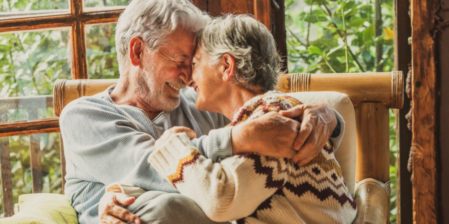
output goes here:
<path id="1" fill-rule="evenodd" d="M 291 171 L 288 160 L 255 153 L 214 163 L 195 148 L 185 133 L 173 135 L 148 161 L 215 222 L 251 215 L 283 187 Z"/>

